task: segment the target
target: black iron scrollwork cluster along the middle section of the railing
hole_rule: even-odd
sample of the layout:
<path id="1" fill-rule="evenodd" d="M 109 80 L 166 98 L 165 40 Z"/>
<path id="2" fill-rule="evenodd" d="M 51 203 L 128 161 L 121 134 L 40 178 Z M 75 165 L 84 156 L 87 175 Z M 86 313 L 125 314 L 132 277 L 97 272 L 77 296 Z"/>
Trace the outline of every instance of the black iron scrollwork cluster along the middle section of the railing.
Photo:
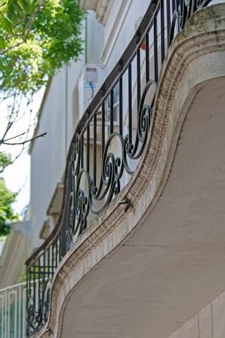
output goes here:
<path id="1" fill-rule="evenodd" d="M 93 214 L 100 213 L 120 192 L 121 179 L 124 172 L 133 173 L 129 166 L 129 160 L 137 160 L 141 157 L 143 149 L 149 135 L 149 125 L 151 121 L 152 104 L 146 104 L 146 97 L 149 89 L 156 86 L 154 80 L 150 80 L 143 90 L 141 102 L 138 111 L 138 126 L 136 137 L 133 144 L 129 143 L 128 135 L 122 136 L 119 133 L 111 133 L 106 142 L 103 156 L 100 183 L 94 186 L 91 173 L 88 173 L 84 167 L 81 167 L 81 141 L 78 139 L 73 146 L 72 165 L 71 165 L 71 190 L 69 193 L 69 217 L 67 230 L 67 249 L 72 245 L 72 237 L 76 238 L 86 229 L 87 218 L 90 211 Z M 120 157 L 116 157 L 110 151 L 113 141 L 117 141 Z M 99 207 L 97 202 L 101 201 Z"/>

